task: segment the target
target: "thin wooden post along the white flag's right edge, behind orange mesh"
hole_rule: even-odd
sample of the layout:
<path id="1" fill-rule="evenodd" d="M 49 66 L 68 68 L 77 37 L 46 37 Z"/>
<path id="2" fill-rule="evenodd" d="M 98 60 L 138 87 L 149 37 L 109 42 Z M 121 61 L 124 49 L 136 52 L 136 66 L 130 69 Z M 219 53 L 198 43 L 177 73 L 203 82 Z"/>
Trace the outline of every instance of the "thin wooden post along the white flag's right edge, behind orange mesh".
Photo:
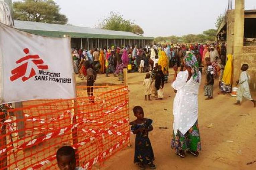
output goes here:
<path id="1" fill-rule="evenodd" d="M 69 35 L 63 35 L 63 37 L 69 37 L 69 41 L 70 41 L 70 45 L 71 45 L 71 38 Z M 70 53 L 71 53 L 71 49 L 70 49 Z M 72 59 L 72 57 L 71 57 Z M 72 59 L 72 64 L 73 64 L 73 59 Z M 74 82 L 75 83 L 75 87 L 76 87 L 76 74 L 73 73 L 73 79 L 74 79 Z M 75 89 L 75 94 L 76 93 L 76 89 Z M 76 124 L 76 116 L 77 116 L 77 113 L 78 113 L 78 104 L 77 104 L 77 100 L 76 100 L 76 97 L 75 97 L 75 100 L 72 100 L 72 107 L 73 109 L 71 109 L 71 115 L 73 115 L 73 119 L 71 120 L 71 124 L 75 125 Z M 73 113 L 72 113 L 73 112 Z M 77 135 L 77 128 L 73 128 L 72 129 L 72 145 L 75 145 L 78 143 L 78 135 Z M 75 152 L 76 152 L 76 166 L 79 166 L 79 154 L 78 154 L 78 148 L 75 149 Z"/>

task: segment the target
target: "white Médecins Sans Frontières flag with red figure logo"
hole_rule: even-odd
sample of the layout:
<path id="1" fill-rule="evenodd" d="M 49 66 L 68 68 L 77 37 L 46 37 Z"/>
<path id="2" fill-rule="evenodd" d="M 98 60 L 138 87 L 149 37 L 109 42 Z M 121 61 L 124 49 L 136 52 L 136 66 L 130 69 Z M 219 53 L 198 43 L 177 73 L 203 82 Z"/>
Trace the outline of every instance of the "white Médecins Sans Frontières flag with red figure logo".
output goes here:
<path id="1" fill-rule="evenodd" d="M 0 103 L 75 98 L 69 38 L 29 34 L 0 23 Z"/>

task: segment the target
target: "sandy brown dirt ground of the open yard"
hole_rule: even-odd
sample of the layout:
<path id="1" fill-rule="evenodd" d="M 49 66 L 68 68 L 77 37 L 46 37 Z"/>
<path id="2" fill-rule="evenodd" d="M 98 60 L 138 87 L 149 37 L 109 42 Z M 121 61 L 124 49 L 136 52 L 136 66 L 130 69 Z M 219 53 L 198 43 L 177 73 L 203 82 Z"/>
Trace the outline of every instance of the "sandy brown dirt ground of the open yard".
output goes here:
<path id="1" fill-rule="evenodd" d="M 132 108 L 140 105 L 146 118 L 153 119 L 154 130 L 150 140 L 155 154 L 158 170 L 255 170 L 256 169 L 256 108 L 250 101 L 244 100 L 242 106 L 235 106 L 235 97 L 218 95 L 218 79 L 214 85 L 214 99 L 204 100 L 203 83 L 199 93 L 199 129 L 202 151 L 198 157 L 186 154 L 180 158 L 171 149 L 173 122 L 173 99 L 175 93 L 171 87 L 173 72 L 164 86 L 164 100 L 144 101 L 142 82 L 146 73 L 129 73 L 130 119 L 135 117 Z M 203 75 L 203 80 L 204 82 Z M 78 84 L 85 84 L 80 80 Z M 96 85 L 118 84 L 117 77 L 99 75 Z M 253 97 L 256 98 L 255 93 Z M 211 125 L 211 126 L 209 126 Z M 209 127 L 207 127 L 209 126 Z M 167 127 L 168 129 L 160 129 Z M 133 164 L 135 135 L 131 134 L 132 147 L 124 148 L 105 161 L 104 165 L 93 169 L 136 170 Z"/>

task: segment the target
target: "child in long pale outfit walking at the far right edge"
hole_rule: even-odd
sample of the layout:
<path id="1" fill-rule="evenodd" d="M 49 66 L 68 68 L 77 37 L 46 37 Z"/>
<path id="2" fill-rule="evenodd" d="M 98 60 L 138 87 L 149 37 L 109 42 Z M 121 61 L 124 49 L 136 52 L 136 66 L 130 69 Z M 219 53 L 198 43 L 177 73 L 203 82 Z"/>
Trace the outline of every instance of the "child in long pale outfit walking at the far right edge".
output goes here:
<path id="1" fill-rule="evenodd" d="M 243 64 L 241 67 L 242 73 L 240 75 L 239 80 L 237 80 L 236 84 L 239 84 L 239 88 L 237 91 L 237 103 L 235 105 L 241 105 L 241 101 L 243 97 L 251 100 L 256 107 L 256 101 L 252 99 L 250 88 L 249 88 L 249 75 L 247 74 L 246 70 L 249 68 L 248 64 Z"/>

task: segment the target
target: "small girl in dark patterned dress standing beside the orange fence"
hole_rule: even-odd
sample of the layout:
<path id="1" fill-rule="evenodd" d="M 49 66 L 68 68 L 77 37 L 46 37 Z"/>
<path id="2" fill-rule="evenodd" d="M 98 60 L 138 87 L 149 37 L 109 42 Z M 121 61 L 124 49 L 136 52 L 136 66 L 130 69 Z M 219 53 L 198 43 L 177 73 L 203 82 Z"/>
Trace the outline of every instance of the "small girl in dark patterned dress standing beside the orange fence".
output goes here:
<path id="1" fill-rule="evenodd" d="M 139 165 L 141 170 L 146 169 L 146 165 L 149 165 L 150 169 L 156 169 L 153 164 L 155 157 L 148 136 L 149 132 L 153 130 L 152 120 L 144 118 L 141 106 L 135 106 L 133 113 L 137 117 L 135 121 L 130 123 L 133 134 L 136 134 L 134 163 Z"/>

